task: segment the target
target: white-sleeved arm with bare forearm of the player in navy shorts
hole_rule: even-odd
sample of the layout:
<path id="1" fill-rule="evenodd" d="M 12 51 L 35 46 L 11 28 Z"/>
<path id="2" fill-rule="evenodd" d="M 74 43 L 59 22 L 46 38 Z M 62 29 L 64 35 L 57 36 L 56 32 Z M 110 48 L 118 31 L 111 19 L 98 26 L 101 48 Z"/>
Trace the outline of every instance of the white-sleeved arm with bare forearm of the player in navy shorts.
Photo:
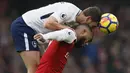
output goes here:
<path id="1" fill-rule="evenodd" d="M 63 8 L 57 9 L 56 12 L 47 18 L 43 25 L 45 28 L 51 30 L 68 28 L 68 26 L 63 25 L 63 23 L 75 21 L 75 17 L 80 11 L 81 10 L 74 5 L 64 5 Z"/>

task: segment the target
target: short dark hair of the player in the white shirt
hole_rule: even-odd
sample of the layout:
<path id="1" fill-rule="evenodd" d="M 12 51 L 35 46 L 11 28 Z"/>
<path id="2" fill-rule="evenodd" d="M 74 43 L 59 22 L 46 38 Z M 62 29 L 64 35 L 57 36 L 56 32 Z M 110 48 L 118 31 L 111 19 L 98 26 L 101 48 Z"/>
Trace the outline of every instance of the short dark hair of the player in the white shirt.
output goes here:
<path id="1" fill-rule="evenodd" d="M 100 22 L 102 12 L 99 7 L 93 6 L 93 7 L 88 7 L 86 9 L 84 9 L 83 14 L 85 16 L 91 16 L 92 20 L 95 22 Z"/>

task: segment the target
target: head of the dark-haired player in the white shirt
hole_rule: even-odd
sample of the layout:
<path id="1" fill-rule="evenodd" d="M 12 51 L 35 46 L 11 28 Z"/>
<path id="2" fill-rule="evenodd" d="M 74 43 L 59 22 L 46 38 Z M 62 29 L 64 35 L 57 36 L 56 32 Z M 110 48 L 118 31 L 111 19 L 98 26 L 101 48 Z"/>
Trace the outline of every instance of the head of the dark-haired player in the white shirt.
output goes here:
<path id="1" fill-rule="evenodd" d="M 77 20 L 79 19 L 79 23 L 81 24 L 89 24 L 90 27 L 98 26 L 100 19 L 101 19 L 101 10 L 100 8 L 88 7 L 84 9 L 80 14 Z"/>

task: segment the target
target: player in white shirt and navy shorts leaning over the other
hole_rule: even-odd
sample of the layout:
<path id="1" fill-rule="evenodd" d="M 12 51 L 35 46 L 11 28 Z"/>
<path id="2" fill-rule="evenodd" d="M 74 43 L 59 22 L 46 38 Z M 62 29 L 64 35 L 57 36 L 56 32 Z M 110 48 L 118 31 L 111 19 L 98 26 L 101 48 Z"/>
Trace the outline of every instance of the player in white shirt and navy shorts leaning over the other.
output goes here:
<path id="1" fill-rule="evenodd" d="M 22 57 L 27 73 L 35 73 L 40 60 L 40 51 L 33 36 L 68 28 L 64 23 L 77 22 L 98 26 L 101 11 L 98 7 L 88 7 L 83 11 L 72 3 L 57 2 L 30 10 L 11 24 L 11 32 L 16 51 Z"/>

